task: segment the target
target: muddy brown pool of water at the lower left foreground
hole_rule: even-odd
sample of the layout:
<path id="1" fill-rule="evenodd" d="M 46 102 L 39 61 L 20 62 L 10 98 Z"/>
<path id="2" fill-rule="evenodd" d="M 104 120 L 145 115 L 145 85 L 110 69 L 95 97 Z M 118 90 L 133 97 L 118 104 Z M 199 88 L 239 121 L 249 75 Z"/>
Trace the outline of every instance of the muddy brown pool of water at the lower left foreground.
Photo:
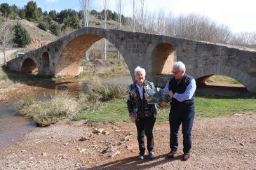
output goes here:
<path id="1" fill-rule="evenodd" d="M 10 103 L 0 103 L 0 149 L 14 144 L 36 123 L 16 115 Z"/>

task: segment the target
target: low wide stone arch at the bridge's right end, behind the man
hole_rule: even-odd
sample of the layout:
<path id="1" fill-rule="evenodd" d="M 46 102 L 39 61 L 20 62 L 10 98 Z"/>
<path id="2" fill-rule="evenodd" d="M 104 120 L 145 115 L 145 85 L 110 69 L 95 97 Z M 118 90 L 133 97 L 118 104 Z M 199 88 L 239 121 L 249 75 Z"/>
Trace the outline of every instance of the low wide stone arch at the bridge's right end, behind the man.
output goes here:
<path id="1" fill-rule="evenodd" d="M 196 72 L 191 72 L 190 74 L 196 79 L 198 84 L 205 83 L 205 81 L 214 74 L 228 76 L 242 83 L 248 91 L 251 90 L 250 80 L 252 77 L 250 77 L 250 75 L 246 72 L 234 67 L 225 65 L 210 65 L 197 68 Z"/>

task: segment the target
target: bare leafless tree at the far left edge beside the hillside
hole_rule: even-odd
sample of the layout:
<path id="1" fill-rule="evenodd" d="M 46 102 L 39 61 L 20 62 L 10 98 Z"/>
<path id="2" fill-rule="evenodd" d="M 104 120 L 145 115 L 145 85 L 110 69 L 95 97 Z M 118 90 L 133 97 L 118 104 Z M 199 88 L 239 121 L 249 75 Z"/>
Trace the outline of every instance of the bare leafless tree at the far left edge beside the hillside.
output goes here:
<path id="1" fill-rule="evenodd" d="M 7 24 L 7 19 L 5 18 L 0 24 L 0 49 L 3 51 L 4 65 L 6 65 L 8 58 L 5 55 L 7 48 L 13 46 L 13 32 L 11 26 Z"/>

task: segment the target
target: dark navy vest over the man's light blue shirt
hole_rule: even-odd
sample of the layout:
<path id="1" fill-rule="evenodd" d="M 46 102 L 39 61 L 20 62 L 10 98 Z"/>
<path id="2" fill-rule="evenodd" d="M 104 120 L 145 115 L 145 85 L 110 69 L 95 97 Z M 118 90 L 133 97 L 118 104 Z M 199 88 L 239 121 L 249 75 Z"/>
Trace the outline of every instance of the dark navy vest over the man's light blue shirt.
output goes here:
<path id="1" fill-rule="evenodd" d="M 187 74 L 184 74 L 180 81 L 177 81 L 175 77 L 173 77 L 169 81 L 169 90 L 171 90 L 173 93 L 184 93 L 191 80 L 193 80 L 193 77 Z M 185 100 L 183 102 L 179 102 L 177 99 L 172 98 L 171 106 L 175 108 L 194 108 L 194 96 L 195 94 L 191 99 Z"/>

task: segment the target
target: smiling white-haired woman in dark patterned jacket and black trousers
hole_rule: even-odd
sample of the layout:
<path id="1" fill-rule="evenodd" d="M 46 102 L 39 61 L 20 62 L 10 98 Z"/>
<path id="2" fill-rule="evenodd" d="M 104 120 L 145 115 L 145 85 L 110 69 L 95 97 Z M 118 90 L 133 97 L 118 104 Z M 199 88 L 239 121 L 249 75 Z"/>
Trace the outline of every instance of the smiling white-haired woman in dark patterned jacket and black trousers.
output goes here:
<path id="1" fill-rule="evenodd" d="M 130 85 L 129 96 L 127 100 L 128 112 L 132 122 L 135 122 L 137 128 L 137 138 L 139 144 L 139 159 L 145 157 L 144 135 L 147 137 L 148 158 L 154 158 L 154 139 L 153 127 L 158 113 L 155 104 L 149 105 L 145 94 L 145 87 L 154 88 L 154 83 L 145 80 L 146 71 L 144 68 L 135 68 L 135 82 Z"/>

